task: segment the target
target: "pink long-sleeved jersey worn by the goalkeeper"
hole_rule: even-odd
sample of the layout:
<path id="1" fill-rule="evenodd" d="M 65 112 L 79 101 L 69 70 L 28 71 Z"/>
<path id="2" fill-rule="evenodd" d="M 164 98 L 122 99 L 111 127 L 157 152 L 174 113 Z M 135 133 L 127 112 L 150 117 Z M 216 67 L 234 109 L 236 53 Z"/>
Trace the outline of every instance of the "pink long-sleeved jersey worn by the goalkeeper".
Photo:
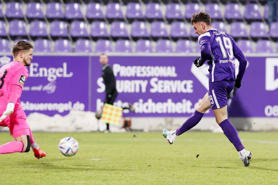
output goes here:
<path id="1" fill-rule="evenodd" d="M 12 61 L 0 68 L 0 115 L 6 110 L 12 85 L 19 85 L 20 92 L 15 103 L 14 110 L 21 109 L 20 96 L 23 85 L 29 76 L 28 69 L 18 61 Z"/>

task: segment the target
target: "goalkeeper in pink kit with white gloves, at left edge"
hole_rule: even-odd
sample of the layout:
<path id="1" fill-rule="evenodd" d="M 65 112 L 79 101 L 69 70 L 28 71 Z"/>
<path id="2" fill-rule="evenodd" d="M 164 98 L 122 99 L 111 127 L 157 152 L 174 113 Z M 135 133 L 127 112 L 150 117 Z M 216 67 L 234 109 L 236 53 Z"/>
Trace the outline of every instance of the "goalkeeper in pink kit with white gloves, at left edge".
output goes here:
<path id="1" fill-rule="evenodd" d="M 0 146 L 0 154 L 28 152 L 32 147 L 36 158 L 46 156 L 39 148 L 20 104 L 23 85 L 29 76 L 25 66 L 31 65 L 33 46 L 19 41 L 13 46 L 13 61 L 0 68 L 0 126 L 8 127 L 15 141 Z"/>

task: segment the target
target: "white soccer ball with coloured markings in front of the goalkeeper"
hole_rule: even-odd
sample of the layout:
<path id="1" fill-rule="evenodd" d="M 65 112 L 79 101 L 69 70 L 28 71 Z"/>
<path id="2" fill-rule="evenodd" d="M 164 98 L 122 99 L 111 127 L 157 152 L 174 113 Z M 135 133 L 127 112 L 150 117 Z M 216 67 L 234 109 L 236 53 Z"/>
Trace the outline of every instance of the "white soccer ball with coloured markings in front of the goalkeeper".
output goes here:
<path id="1" fill-rule="evenodd" d="M 59 142 L 60 152 L 67 157 L 74 156 L 79 148 L 79 144 L 73 137 L 65 137 Z"/>

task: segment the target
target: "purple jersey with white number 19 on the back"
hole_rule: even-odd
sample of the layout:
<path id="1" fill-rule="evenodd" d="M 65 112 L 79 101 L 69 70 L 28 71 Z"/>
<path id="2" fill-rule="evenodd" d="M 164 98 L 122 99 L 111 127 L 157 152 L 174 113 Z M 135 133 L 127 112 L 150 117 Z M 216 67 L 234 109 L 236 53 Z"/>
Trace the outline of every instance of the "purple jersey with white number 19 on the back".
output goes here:
<path id="1" fill-rule="evenodd" d="M 217 29 L 209 29 L 198 38 L 199 44 L 209 44 L 211 48 L 209 65 L 209 82 L 235 81 L 235 55 L 241 53 L 232 36 Z"/>

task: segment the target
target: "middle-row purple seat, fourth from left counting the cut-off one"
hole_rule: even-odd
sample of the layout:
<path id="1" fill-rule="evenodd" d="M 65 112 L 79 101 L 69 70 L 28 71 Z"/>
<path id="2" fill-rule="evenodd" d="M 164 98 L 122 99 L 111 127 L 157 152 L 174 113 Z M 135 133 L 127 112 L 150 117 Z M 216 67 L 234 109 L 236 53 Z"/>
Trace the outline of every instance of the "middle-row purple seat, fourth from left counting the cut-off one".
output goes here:
<path id="1" fill-rule="evenodd" d="M 68 27 L 64 21 L 52 21 L 50 24 L 50 36 L 53 39 L 58 37 L 68 38 Z"/>

